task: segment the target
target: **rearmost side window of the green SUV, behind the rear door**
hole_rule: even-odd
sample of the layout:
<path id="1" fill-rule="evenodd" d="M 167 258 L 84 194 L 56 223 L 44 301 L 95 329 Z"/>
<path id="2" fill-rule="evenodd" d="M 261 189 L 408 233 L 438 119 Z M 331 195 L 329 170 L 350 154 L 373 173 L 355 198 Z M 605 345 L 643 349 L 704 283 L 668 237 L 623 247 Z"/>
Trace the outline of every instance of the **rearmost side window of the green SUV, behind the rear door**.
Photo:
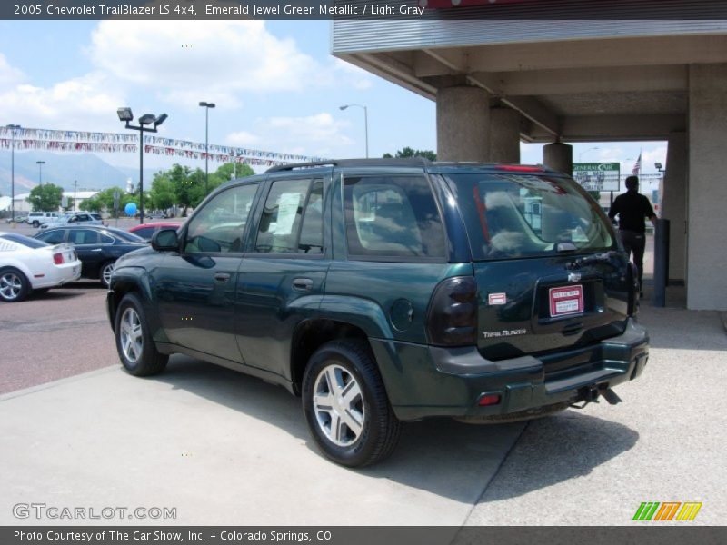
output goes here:
<path id="1" fill-rule="evenodd" d="M 423 176 L 346 178 L 344 202 L 350 255 L 444 257 L 442 220 Z"/>

